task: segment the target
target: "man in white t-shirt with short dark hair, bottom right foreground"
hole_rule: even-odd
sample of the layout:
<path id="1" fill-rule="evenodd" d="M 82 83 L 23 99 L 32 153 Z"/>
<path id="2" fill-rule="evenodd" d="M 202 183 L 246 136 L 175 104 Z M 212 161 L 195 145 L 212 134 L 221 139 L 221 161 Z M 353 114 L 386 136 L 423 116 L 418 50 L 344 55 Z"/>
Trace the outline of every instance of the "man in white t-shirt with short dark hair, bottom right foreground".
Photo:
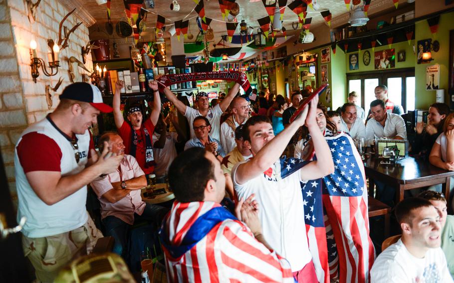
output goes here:
<path id="1" fill-rule="evenodd" d="M 402 238 L 384 250 L 371 269 L 371 283 L 452 283 L 440 248 L 440 216 L 426 199 L 409 197 L 396 206 Z"/>

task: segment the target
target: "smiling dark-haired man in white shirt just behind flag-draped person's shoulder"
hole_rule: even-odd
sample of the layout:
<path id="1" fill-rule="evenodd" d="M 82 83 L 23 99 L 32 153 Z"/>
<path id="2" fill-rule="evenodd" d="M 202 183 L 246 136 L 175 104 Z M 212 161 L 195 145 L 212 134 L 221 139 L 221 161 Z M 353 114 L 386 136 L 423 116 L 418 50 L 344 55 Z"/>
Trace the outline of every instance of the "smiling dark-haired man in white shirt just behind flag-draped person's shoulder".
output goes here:
<path id="1" fill-rule="evenodd" d="M 350 134 L 352 139 L 364 139 L 366 141 L 366 126 L 364 122 L 357 116 L 357 108 L 353 103 L 345 103 L 341 107 L 342 128 L 345 133 Z"/>

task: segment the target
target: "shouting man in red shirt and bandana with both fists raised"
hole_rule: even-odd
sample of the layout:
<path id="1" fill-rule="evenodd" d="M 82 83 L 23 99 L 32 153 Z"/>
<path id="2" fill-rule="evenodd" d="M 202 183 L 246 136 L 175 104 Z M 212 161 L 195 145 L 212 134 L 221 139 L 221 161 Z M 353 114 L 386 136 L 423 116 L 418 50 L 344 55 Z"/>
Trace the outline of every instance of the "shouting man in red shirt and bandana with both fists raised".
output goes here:
<path id="1" fill-rule="evenodd" d="M 151 174 L 155 170 L 155 159 L 153 155 L 153 132 L 158 122 L 161 112 L 161 98 L 158 92 L 158 83 L 151 81 L 148 85 L 153 90 L 153 110 L 150 118 L 143 125 L 143 114 L 138 106 L 131 106 L 126 118 L 131 124 L 128 124 L 123 118 L 120 110 L 120 89 L 124 87 L 125 82 L 117 81 L 115 83 L 115 94 L 113 97 L 113 113 L 115 126 L 125 144 L 125 153 L 134 156 L 139 166 L 145 174 Z"/>

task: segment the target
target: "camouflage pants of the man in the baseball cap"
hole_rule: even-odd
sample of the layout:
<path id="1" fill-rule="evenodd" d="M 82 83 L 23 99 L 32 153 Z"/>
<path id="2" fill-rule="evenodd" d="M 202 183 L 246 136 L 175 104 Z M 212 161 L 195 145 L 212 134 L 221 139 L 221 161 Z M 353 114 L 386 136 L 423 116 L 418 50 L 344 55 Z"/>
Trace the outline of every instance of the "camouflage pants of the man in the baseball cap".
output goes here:
<path id="1" fill-rule="evenodd" d="M 30 260 L 38 282 L 53 282 L 60 269 L 80 255 L 90 254 L 101 232 L 88 216 L 79 228 L 57 235 L 28 238 L 22 235 L 22 248 Z"/>

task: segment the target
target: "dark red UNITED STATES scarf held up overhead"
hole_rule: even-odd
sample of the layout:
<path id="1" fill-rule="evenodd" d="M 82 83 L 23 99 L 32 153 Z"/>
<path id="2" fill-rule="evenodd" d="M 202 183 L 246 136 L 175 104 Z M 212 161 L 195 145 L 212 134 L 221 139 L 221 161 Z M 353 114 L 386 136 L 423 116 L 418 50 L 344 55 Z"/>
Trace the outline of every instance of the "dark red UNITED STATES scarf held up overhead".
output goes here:
<path id="1" fill-rule="evenodd" d="M 193 81 L 207 81 L 207 80 L 224 80 L 233 81 L 238 83 L 246 95 L 252 92 L 249 81 L 247 80 L 246 74 L 235 71 L 221 71 L 221 72 L 199 72 L 199 73 L 187 73 L 187 74 L 172 74 L 164 75 L 159 77 L 156 81 L 160 85 L 160 88 L 169 87 L 177 83 L 193 82 Z"/>

